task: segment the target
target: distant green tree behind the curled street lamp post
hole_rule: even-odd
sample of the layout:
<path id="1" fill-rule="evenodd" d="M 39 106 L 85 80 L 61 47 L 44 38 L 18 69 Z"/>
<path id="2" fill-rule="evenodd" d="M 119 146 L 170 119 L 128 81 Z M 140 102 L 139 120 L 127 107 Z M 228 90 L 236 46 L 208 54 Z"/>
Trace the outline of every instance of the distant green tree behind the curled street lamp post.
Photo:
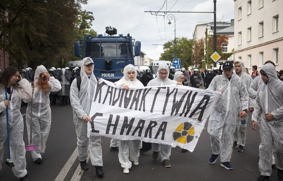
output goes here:
<path id="1" fill-rule="evenodd" d="M 181 59 L 181 67 L 188 69 L 192 65 L 191 55 L 192 55 L 192 45 L 193 40 L 186 37 L 176 38 L 176 58 Z M 174 40 L 164 43 L 163 50 L 164 53 L 160 54 L 159 60 L 169 60 L 172 61 L 174 58 Z"/>

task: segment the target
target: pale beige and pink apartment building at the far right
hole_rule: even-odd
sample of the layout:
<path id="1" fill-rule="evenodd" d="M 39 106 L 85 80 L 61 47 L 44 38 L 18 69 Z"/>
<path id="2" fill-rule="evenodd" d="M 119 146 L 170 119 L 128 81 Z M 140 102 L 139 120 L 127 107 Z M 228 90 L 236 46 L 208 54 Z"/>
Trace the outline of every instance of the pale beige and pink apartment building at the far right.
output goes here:
<path id="1" fill-rule="evenodd" d="M 283 1 L 234 0 L 234 59 L 249 68 L 271 60 L 283 69 Z"/>

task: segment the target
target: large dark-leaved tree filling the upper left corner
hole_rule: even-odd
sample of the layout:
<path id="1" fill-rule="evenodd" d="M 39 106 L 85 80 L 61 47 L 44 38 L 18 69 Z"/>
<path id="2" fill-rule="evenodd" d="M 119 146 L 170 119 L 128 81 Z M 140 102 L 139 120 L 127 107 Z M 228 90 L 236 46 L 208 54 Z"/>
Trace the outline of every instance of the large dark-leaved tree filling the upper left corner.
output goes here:
<path id="1" fill-rule="evenodd" d="M 0 48 L 11 64 L 23 67 L 57 64 L 73 47 L 74 29 L 81 4 L 87 0 L 2 0 Z M 11 58 L 10 57 L 10 58 Z"/>

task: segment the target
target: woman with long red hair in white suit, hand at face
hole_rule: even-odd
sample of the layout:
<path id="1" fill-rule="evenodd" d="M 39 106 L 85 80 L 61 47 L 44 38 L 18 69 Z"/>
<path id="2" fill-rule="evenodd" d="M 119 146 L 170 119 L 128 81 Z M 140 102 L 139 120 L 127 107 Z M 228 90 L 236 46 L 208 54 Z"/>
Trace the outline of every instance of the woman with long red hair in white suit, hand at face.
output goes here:
<path id="1" fill-rule="evenodd" d="M 61 90 L 59 80 L 51 77 L 43 65 L 38 66 L 34 73 L 34 93 L 32 105 L 28 102 L 26 108 L 26 128 L 28 140 L 30 139 L 30 113 L 32 107 L 32 145 L 36 145 L 37 150 L 31 151 L 34 162 L 42 162 L 45 152 L 45 144 L 51 127 L 50 92 Z M 28 141 L 30 143 L 30 140 Z"/>

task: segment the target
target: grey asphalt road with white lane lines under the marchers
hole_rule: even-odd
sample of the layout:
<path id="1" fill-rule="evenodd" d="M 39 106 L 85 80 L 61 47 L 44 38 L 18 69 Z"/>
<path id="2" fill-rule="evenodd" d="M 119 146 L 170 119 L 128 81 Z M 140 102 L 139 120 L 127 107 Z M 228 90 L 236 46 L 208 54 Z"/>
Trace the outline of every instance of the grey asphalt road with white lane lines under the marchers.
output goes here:
<path id="1" fill-rule="evenodd" d="M 21 108 L 22 114 L 26 107 Z M 251 116 L 250 116 L 251 117 Z M 25 121 L 25 116 L 24 116 Z M 25 123 L 24 123 L 25 125 Z M 247 122 L 247 141 L 244 152 L 233 149 L 230 164 L 233 170 L 220 166 L 220 159 L 209 164 L 211 147 L 207 130 L 204 129 L 194 152 L 182 153 L 181 148 L 172 148 L 171 168 L 165 168 L 160 158 L 153 161 L 152 151 L 140 155 L 139 165 L 132 166 L 130 174 L 124 174 L 118 160 L 117 151 L 109 151 L 110 138 L 102 137 L 103 177 L 95 175 L 95 168 L 88 161 L 90 169 L 82 171 L 76 157 L 77 138 L 71 105 L 52 107 L 52 124 L 46 143 L 46 151 L 42 154 L 42 164 L 32 161 L 30 152 L 26 152 L 26 169 L 30 180 L 256 180 L 260 175 L 259 131 L 251 129 L 251 121 Z M 205 128 L 207 128 L 207 123 Z M 27 143 L 26 128 L 24 141 Z M 19 180 L 12 169 L 5 164 L 7 149 L 4 154 L 0 181 Z M 277 169 L 272 169 L 270 180 L 276 179 Z M 57 178 L 57 179 L 56 179 Z"/>

